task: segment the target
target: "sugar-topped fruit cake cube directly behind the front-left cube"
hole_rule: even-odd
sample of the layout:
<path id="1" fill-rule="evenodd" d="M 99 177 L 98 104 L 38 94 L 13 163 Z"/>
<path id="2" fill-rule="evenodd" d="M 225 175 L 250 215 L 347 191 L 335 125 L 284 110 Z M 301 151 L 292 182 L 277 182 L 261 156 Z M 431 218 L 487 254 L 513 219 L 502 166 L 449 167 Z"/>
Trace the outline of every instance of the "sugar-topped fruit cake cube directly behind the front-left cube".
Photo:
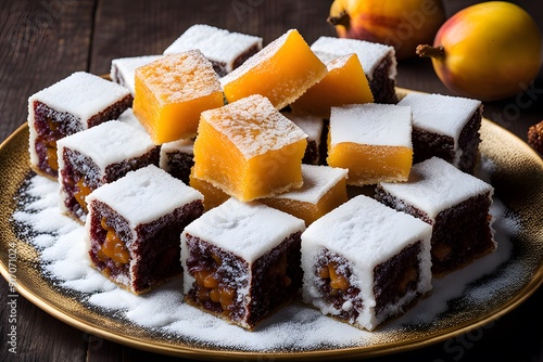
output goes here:
<path id="1" fill-rule="evenodd" d="M 85 222 L 85 197 L 128 171 L 159 166 L 160 147 L 149 134 L 111 120 L 59 140 L 61 209 Z"/>

